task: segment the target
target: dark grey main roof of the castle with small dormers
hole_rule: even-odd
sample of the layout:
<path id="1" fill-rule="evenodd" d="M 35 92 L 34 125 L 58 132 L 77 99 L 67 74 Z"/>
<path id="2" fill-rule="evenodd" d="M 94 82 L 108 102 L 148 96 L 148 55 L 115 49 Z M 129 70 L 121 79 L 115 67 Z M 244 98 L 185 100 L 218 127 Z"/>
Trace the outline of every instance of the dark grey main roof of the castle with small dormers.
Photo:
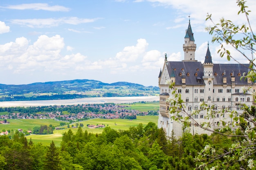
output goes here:
<path id="1" fill-rule="evenodd" d="M 203 64 L 201 62 L 166 62 L 168 73 L 175 75 L 175 84 L 182 84 L 182 71 L 185 72 L 187 85 L 204 85 Z M 227 84 L 231 84 L 231 73 L 235 77 L 235 84 L 247 84 L 247 80 L 241 79 L 243 73 L 247 73 L 249 64 L 213 64 L 213 84 L 223 84 L 223 77 L 227 77 Z M 222 76 L 222 73 L 226 75 Z M 239 76 L 240 74 L 240 76 Z"/>

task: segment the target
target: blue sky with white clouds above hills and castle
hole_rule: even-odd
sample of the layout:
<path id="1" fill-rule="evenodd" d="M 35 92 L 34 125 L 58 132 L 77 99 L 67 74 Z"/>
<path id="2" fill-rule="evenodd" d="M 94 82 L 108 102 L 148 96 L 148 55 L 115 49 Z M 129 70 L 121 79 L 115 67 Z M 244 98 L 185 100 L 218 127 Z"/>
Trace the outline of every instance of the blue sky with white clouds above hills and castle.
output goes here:
<path id="1" fill-rule="evenodd" d="M 254 29 L 256 2 L 247 6 Z M 209 42 L 213 63 L 228 63 L 205 19 L 211 13 L 216 23 L 222 17 L 245 23 L 238 10 L 236 0 L 0 1 L 0 84 L 94 79 L 158 86 L 164 54 L 184 59 L 189 16 L 195 60 L 204 61 Z"/>

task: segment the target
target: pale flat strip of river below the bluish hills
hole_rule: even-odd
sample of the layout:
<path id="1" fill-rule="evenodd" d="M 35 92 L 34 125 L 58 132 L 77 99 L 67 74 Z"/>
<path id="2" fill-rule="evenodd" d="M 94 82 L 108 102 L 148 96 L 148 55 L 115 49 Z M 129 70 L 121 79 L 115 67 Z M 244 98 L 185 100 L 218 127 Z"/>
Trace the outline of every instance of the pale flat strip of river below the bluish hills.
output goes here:
<path id="1" fill-rule="evenodd" d="M 133 102 L 159 101 L 158 96 L 137 96 L 137 97 L 89 97 L 66 100 L 36 100 L 36 101 L 11 101 L 0 102 L 0 107 L 15 106 L 50 106 L 50 105 L 74 105 L 74 104 L 104 104 L 104 103 L 133 103 Z"/>

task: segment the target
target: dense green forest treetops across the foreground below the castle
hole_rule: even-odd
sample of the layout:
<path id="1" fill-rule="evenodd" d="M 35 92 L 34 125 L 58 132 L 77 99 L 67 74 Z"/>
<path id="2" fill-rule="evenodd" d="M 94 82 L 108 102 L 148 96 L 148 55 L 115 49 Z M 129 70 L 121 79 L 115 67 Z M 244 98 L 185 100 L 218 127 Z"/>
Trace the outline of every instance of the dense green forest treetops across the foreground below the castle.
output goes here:
<path id="1" fill-rule="evenodd" d="M 149 122 L 129 130 L 106 127 L 101 134 L 79 127 L 76 134 L 72 130 L 65 132 L 60 146 L 54 142 L 50 146 L 34 144 L 22 134 L 13 140 L 0 136 L 0 170 L 193 170 L 201 163 L 195 158 L 207 145 L 226 154 L 228 147 L 241 140 L 220 134 L 193 136 L 184 132 L 180 139 L 174 135 L 168 139 L 164 129 Z M 226 165 L 239 169 L 243 163 L 247 161 Z"/>

